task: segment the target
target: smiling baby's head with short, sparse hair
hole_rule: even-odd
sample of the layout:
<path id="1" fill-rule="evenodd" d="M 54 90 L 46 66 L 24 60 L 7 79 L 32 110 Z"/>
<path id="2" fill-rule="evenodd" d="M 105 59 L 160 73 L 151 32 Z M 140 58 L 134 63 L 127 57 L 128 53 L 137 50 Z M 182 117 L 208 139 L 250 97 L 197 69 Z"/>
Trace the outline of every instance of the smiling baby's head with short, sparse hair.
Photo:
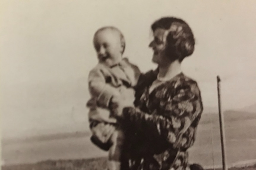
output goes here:
<path id="1" fill-rule="evenodd" d="M 94 48 L 100 63 L 113 66 L 122 60 L 125 41 L 116 27 L 102 27 L 94 34 Z"/>

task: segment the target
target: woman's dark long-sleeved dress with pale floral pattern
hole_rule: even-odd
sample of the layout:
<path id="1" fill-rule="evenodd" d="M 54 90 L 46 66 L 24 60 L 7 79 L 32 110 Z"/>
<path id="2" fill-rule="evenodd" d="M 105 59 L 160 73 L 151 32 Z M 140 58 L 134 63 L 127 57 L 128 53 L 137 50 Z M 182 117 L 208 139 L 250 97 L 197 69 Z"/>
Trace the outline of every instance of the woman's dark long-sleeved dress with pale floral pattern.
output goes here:
<path id="1" fill-rule="evenodd" d="M 197 82 L 180 73 L 149 93 L 157 70 L 141 76 L 135 106 L 123 110 L 123 170 L 183 170 L 203 104 Z"/>

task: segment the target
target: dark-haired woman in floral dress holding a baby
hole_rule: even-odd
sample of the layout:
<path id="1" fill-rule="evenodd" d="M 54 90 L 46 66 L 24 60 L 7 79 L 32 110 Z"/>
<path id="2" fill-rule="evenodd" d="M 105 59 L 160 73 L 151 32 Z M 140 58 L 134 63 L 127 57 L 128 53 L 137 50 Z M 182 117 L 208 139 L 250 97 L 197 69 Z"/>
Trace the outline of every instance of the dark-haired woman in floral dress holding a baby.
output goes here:
<path id="1" fill-rule="evenodd" d="M 203 111 L 197 82 L 181 71 L 195 40 L 187 23 L 174 17 L 161 18 L 151 28 L 154 40 L 149 47 L 158 68 L 141 75 L 137 108 L 118 98 L 110 101 L 126 132 L 122 169 L 183 170 Z"/>

